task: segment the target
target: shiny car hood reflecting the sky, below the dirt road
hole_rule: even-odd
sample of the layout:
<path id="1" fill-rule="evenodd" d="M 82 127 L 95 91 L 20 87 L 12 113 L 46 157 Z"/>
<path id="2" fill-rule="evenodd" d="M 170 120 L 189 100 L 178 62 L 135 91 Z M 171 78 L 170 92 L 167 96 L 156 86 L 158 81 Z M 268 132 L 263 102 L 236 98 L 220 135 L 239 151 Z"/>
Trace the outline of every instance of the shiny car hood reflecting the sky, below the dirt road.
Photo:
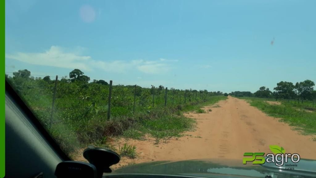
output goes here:
<path id="1" fill-rule="evenodd" d="M 113 171 L 111 174 L 159 174 L 159 175 L 185 175 L 194 177 L 316 177 L 316 160 L 301 159 L 298 163 L 288 161 L 287 164 L 296 164 L 288 170 L 275 163 L 252 165 L 251 162 L 243 164 L 242 160 L 231 159 L 199 159 L 184 161 L 155 161 L 139 163 Z M 226 175 L 226 176 L 224 176 Z"/>

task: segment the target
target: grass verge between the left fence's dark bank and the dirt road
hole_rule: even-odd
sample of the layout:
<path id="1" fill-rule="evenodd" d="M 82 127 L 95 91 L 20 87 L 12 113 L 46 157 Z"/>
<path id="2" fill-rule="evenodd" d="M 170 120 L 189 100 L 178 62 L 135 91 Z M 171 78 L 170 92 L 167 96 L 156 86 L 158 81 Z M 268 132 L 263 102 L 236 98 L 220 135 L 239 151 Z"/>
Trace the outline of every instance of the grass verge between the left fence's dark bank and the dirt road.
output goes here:
<path id="1" fill-rule="evenodd" d="M 126 130 L 123 137 L 141 140 L 144 135 L 148 134 L 155 139 L 155 144 L 159 144 L 161 140 L 166 143 L 172 137 L 181 137 L 183 132 L 194 130 L 196 121 L 184 117 L 182 115 L 184 112 L 206 113 L 201 107 L 212 105 L 222 99 L 227 99 L 227 97 L 212 96 L 205 102 L 195 101 L 170 108 L 157 108 L 148 113 L 149 119 L 142 119 L 139 124 Z"/>

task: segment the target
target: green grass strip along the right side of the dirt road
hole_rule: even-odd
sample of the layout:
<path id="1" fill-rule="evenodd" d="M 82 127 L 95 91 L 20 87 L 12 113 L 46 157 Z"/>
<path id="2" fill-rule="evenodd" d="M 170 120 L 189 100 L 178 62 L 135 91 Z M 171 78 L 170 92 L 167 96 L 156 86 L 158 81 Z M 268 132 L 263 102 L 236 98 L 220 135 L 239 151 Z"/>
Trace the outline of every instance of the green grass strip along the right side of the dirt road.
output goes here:
<path id="1" fill-rule="evenodd" d="M 260 109 L 269 116 L 281 118 L 280 121 L 286 122 L 291 126 L 296 126 L 302 134 L 316 134 L 316 112 L 297 110 L 293 103 L 287 100 L 281 101 L 281 105 L 270 105 L 264 99 L 243 97 L 250 105 Z"/>

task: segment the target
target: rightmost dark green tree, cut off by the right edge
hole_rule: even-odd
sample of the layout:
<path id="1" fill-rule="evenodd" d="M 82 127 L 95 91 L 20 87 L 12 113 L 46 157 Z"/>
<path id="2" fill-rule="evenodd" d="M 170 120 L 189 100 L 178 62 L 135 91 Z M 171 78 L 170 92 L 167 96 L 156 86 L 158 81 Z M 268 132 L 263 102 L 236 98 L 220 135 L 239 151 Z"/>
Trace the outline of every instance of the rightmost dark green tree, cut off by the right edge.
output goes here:
<path id="1" fill-rule="evenodd" d="M 312 96 L 312 91 L 315 86 L 315 83 L 312 80 L 305 80 L 303 82 L 296 82 L 295 90 L 297 94 L 302 99 L 302 103 L 304 100 L 309 99 Z"/>

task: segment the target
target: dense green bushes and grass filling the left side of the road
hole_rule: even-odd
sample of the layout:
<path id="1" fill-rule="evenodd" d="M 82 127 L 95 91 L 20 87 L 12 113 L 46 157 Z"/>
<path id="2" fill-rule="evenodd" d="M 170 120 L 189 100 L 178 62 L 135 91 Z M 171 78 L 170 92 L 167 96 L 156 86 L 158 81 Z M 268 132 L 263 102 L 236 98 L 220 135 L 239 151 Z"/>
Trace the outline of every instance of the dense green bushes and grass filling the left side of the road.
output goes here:
<path id="1" fill-rule="evenodd" d="M 167 89 L 161 85 L 146 88 L 113 82 L 107 118 L 109 83 L 89 82 L 90 78 L 78 69 L 71 71 L 69 78 L 57 80 L 53 109 L 55 79 L 34 77 L 25 69 L 14 72 L 13 77 L 6 74 L 6 80 L 69 156 L 90 144 L 111 148 L 112 137 L 144 139 L 148 135 L 155 138 L 156 144 L 167 142 L 194 129 L 195 120 L 185 118 L 184 112 L 199 111 L 204 105 L 227 98 L 219 91 Z M 133 150 L 130 145 L 119 148 L 128 157 L 135 156 Z"/>

